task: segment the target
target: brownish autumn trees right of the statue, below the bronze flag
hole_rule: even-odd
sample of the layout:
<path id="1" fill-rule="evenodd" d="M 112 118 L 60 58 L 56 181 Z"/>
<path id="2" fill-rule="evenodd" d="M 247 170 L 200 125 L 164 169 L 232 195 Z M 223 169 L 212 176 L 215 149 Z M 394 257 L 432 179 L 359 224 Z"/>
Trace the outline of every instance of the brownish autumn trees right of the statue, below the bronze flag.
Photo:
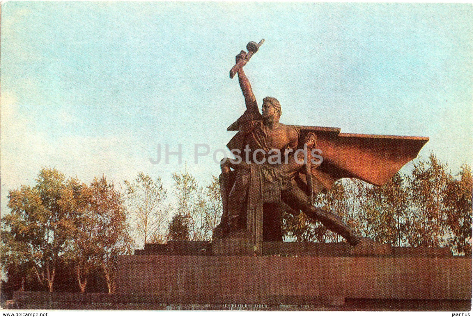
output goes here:
<path id="1" fill-rule="evenodd" d="M 411 175 L 397 173 L 381 187 L 339 180 L 316 197 L 315 206 L 339 215 L 360 236 L 378 242 L 472 252 L 471 168 L 462 166 L 454 178 L 434 154 L 414 162 Z M 284 214 L 282 229 L 286 240 L 340 241 L 302 213 Z"/>

